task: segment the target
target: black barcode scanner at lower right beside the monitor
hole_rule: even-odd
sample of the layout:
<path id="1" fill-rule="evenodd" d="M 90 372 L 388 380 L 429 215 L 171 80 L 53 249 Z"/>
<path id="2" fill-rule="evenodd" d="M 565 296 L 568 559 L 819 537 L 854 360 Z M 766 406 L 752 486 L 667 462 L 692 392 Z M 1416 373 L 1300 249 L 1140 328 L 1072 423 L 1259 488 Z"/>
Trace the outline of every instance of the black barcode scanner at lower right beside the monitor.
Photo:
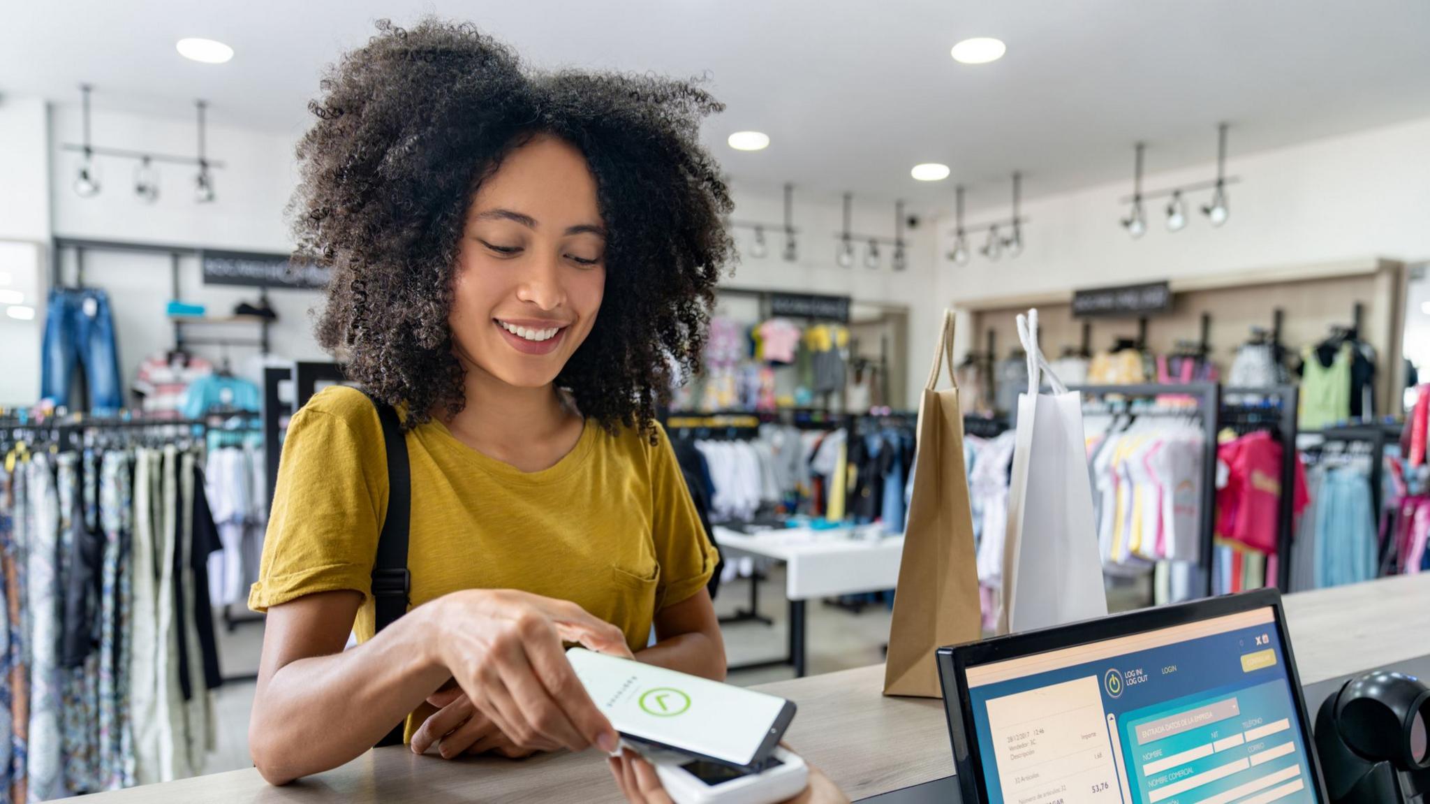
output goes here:
<path id="1" fill-rule="evenodd" d="M 1430 804 L 1430 688 L 1403 672 L 1353 678 L 1321 704 L 1316 751 L 1331 804 Z"/>

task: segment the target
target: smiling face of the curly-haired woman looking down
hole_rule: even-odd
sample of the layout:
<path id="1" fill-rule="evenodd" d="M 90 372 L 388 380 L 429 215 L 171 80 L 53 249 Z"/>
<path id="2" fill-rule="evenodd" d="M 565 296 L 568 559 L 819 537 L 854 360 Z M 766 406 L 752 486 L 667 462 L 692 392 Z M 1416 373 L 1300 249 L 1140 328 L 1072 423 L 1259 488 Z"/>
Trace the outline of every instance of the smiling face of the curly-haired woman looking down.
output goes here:
<path id="1" fill-rule="evenodd" d="M 478 187 L 448 320 L 463 368 L 549 385 L 591 333 L 606 285 L 605 222 L 579 150 L 539 136 Z"/>

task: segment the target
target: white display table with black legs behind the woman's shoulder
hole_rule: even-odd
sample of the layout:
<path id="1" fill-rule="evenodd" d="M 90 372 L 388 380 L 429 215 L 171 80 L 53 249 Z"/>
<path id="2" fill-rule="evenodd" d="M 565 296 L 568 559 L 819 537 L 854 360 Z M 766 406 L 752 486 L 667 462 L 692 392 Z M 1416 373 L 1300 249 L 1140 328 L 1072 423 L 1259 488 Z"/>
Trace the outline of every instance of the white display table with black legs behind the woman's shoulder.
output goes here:
<path id="1" fill-rule="evenodd" d="M 749 555 L 785 565 L 789 655 L 731 670 L 789 664 L 797 678 L 805 674 L 805 601 L 892 589 L 898 584 L 898 564 L 904 555 L 904 536 L 851 538 L 848 529 L 741 534 L 716 525 L 715 542 L 726 558 Z M 751 578 L 749 582 L 754 585 L 758 579 Z"/>

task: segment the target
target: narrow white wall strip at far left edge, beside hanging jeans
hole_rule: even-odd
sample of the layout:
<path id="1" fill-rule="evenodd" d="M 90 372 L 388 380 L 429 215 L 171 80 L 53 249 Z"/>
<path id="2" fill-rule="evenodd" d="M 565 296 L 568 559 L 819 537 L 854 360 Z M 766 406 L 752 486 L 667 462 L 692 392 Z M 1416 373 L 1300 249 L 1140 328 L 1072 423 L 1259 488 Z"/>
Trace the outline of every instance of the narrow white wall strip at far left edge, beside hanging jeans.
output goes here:
<path id="1" fill-rule="evenodd" d="M 0 273 L 27 305 L 43 306 L 40 266 L 50 239 L 49 110 L 33 97 L 0 97 Z M 40 395 L 40 326 L 0 315 L 0 406 Z"/>

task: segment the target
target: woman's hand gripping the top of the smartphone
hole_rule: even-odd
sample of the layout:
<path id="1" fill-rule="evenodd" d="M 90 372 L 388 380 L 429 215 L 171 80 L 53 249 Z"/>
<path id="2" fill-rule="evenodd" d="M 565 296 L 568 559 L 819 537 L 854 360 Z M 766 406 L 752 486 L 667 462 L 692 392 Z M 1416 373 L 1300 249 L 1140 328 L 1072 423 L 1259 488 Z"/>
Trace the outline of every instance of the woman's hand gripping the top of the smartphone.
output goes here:
<path id="1" fill-rule="evenodd" d="M 619 737 L 576 678 L 562 641 L 629 654 L 619 628 L 573 602 L 513 589 L 469 589 L 435 604 L 438 661 L 512 742 L 616 750 Z"/>

